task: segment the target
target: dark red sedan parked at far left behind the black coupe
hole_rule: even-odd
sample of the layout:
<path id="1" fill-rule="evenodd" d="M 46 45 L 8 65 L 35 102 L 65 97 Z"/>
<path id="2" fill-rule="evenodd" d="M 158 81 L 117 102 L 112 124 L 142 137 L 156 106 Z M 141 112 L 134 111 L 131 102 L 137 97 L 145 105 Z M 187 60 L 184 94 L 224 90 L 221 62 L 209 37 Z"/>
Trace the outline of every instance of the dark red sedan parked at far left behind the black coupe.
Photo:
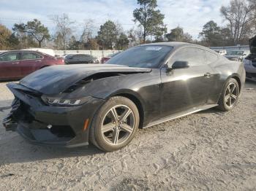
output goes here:
<path id="1" fill-rule="evenodd" d="M 0 80 L 21 79 L 46 66 L 64 64 L 64 58 L 56 58 L 42 52 L 17 50 L 0 53 Z"/>

